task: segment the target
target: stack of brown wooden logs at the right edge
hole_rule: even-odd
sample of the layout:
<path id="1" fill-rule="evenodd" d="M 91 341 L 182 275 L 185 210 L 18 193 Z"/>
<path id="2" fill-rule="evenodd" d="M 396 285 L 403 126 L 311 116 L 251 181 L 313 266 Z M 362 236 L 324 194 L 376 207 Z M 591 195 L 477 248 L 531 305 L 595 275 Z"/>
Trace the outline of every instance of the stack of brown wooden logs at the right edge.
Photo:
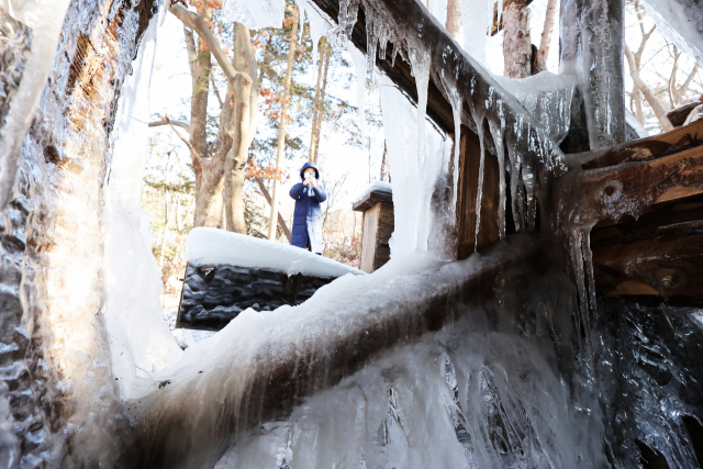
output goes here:
<path id="1" fill-rule="evenodd" d="M 702 295 L 703 122 L 618 145 L 582 167 L 557 181 L 555 205 L 561 220 L 594 223 L 596 292 Z"/>

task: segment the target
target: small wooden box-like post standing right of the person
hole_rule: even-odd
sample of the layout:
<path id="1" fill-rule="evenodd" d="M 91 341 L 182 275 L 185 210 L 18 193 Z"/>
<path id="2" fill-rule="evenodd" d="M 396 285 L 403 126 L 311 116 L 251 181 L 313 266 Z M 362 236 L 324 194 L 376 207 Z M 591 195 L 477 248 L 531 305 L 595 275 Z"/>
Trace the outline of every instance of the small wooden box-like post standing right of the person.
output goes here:
<path id="1" fill-rule="evenodd" d="M 352 209 L 364 213 L 359 268 L 371 273 L 391 258 L 391 248 L 388 243 L 395 226 L 393 194 L 381 190 L 369 190 L 354 203 Z"/>

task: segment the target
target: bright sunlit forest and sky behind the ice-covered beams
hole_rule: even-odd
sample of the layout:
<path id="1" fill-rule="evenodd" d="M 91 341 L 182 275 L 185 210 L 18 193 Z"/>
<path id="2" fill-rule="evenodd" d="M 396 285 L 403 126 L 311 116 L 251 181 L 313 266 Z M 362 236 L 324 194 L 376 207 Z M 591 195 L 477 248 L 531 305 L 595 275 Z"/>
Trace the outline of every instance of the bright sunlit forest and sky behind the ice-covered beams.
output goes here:
<path id="1" fill-rule="evenodd" d="M 457 42 L 466 45 L 464 30 L 476 27 L 476 22 L 462 24 L 461 21 L 469 16 L 466 11 L 469 0 L 423 1 Z M 189 0 L 188 3 L 191 11 L 204 16 L 221 51 L 237 70 L 242 67 L 237 67 L 235 52 L 242 46 L 237 42 L 242 41 L 250 41 L 258 67 L 258 89 L 255 90 L 258 119 L 244 169 L 246 234 L 288 243 L 283 225 L 291 226 L 293 209 L 288 191 L 298 182 L 303 163 L 313 159 L 328 193 L 323 204 L 323 255 L 358 267 L 361 214 L 353 212 L 352 204 L 371 181 L 392 182 L 392 168 L 384 158 L 378 89 L 362 77 L 366 96 L 361 121 L 353 56 L 348 51 L 330 46 L 324 37 L 313 51 L 309 22 L 304 21 L 301 35 L 298 8 L 292 1 L 288 2 L 282 29 L 248 34 L 238 30 L 243 26 L 221 21 L 220 0 Z M 496 13 L 496 9 L 498 4 L 488 0 L 486 48 L 469 51 L 469 54 L 482 59 L 487 69 L 498 76 L 523 78 L 542 70 L 557 74 L 559 2 L 503 0 L 502 14 L 491 14 Z M 703 92 L 699 67 L 659 32 L 638 1 L 626 1 L 625 24 L 628 111 L 650 134 L 669 130 L 671 124 L 666 112 L 699 99 Z M 532 56 L 522 60 L 521 53 L 531 45 Z M 150 83 L 149 105 L 156 112 L 150 122 L 143 192 L 143 206 L 150 221 L 152 248 L 161 269 L 161 299 L 166 310 L 178 304 L 179 279 L 186 267 L 181 254 L 186 250 L 188 234 L 194 225 L 204 224 L 194 216 L 197 157 L 193 153 L 198 154 L 198 145 L 202 146 L 201 154 L 217 152 L 219 138 L 222 138 L 220 115 L 222 109 L 226 109 L 230 92 L 226 76 L 214 59 L 208 62 L 209 71 L 204 75 L 202 69 L 198 71 L 204 57 L 202 51 L 207 49 L 197 32 L 185 27 L 176 15 L 166 14 L 158 31 Z M 203 94 L 208 97 L 205 104 Z M 200 131 L 194 113 L 198 105 L 202 108 Z M 196 138 L 198 132 L 199 139 Z M 271 231 L 270 198 L 276 179 L 280 215 L 279 224 Z"/>

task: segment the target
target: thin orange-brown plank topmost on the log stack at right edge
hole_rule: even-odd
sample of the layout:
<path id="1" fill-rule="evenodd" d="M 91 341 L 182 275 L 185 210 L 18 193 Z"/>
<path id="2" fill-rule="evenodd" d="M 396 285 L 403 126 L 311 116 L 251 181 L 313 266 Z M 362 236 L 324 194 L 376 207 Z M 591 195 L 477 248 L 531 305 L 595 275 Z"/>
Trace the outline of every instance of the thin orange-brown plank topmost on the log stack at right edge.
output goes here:
<path id="1" fill-rule="evenodd" d="M 581 165 L 583 169 L 604 168 L 607 166 L 621 165 L 623 163 L 649 161 L 666 154 L 673 154 L 678 148 L 674 145 L 681 143 L 687 136 L 703 139 L 703 120 L 695 121 L 684 127 L 674 129 L 659 135 L 627 142 L 622 145 L 611 147 L 596 153 L 596 157 Z M 594 154 L 589 152 L 589 154 Z M 581 155 L 581 154 L 579 154 Z M 585 156 L 585 155 L 584 155 Z"/>

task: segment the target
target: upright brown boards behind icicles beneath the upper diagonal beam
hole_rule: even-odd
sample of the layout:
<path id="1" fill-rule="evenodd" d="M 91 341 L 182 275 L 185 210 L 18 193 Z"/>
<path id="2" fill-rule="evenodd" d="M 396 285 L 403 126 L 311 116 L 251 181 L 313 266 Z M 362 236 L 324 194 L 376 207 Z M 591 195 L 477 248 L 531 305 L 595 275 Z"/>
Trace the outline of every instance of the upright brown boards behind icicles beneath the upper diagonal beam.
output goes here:
<path id="1" fill-rule="evenodd" d="M 478 247 L 482 249 L 498 241 L 499 168 L 498 160 L 486 154 L 481 223 L 476 242 L 476 199 L 478 194 L 481 147 L 478 137 L 469 132 L 461 135 L 459 180 L 457 193 L 458 258 L 469 257 Z"/>

